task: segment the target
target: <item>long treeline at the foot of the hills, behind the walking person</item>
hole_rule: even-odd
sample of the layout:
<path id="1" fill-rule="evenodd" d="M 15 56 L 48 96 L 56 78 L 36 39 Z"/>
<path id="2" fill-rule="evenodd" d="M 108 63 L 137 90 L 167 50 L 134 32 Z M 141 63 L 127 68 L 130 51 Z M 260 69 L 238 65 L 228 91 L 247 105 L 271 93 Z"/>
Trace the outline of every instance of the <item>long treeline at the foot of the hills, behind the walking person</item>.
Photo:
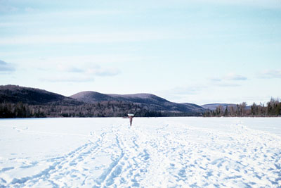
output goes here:
<path id="1" fill-rule="evenodd" d="M 146 106 L 124 101 L 80 105 L 30 105 L 22 102 L 0 104 L 0 118 L 123 117 L 127 113 L 134 113 L 138 117 L 175 116 L 174 113 L 150 111 Z"/>

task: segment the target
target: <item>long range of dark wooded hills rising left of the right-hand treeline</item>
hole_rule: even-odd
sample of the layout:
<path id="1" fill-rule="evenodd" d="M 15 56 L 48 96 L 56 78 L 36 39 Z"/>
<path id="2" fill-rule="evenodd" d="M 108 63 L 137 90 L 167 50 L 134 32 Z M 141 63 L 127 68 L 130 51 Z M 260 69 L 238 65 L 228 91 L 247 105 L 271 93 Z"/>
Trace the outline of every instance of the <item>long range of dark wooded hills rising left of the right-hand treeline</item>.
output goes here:
<path id="1" fill-rule="evenodd" d="M 202 115 L 196 104 L 177 104 L 154 94 L 79 92 L 70 97 L 43 89 L 0 86 L 0 118 Z"/>

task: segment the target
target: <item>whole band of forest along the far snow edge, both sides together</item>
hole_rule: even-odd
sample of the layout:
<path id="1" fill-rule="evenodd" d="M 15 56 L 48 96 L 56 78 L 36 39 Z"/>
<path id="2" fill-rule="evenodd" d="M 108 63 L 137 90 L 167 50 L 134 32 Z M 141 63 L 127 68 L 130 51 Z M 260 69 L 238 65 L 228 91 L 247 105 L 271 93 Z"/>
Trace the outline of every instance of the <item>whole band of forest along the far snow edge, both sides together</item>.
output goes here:
<path id="1" fill-rule="evenodd" d="M 0 104 L 0 118 L 60 118 L 60 117 L 124 117 L 134 113 L 137 117 L 169 117 L 169 116 L 203 116 L 203 117 L 276 117 L 281 115 L 279 99 L 270 99 L 266 105 L 245 102 L 236 106 L 216 107 L 202 113 L 179 113 L 167 111 L 150 111 L 148 106 L 124 101 L 102 101 L 95 104 Z"/>

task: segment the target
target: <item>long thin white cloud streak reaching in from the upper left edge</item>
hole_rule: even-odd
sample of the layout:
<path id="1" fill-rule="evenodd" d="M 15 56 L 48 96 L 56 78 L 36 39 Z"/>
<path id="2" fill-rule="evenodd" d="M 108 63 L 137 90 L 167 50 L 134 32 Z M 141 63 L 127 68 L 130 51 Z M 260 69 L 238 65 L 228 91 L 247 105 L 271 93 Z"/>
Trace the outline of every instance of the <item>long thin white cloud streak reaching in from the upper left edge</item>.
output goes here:
<path id="1" fill-rule="evenodd" d="M 163 31 L 131 31 L 107 32 L 80 35 L 29 35 L 18 37 L 2 37 L 0 45 L 15 44 L 91 44 L 91 43 L 118 43 L 144 42 L 161 39 L 179 39 L 183 36 Z"/>

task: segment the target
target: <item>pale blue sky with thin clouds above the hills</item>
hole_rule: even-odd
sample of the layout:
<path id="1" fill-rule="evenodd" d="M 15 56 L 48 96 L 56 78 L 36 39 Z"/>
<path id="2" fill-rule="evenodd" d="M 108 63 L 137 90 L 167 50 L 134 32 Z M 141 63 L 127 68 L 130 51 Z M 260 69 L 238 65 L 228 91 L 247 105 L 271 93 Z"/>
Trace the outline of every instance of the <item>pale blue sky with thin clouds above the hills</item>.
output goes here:
<path id="1" fill-rule="evenodd" d="M 266 103 L 281 98 L 281 1 L 0 0 L 0 84 Z"/>

